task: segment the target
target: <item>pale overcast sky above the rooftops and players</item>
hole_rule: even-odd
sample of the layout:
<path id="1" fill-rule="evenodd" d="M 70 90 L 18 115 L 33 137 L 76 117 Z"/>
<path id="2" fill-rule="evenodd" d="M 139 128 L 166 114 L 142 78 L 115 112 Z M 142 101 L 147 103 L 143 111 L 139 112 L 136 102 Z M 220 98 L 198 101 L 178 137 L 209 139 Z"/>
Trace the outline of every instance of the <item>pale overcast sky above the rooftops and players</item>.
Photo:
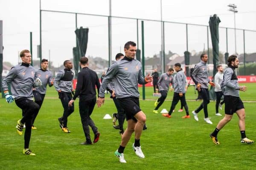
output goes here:
<path id="1" fill-rule="evenodd" d="M 234 15 L 227 5 L 235 3 L 236 28 L 256 30 L 255 0 L 162 0 L 164 21 L 208 25 L 210 15 L 217 14 L 219 26 L 234 27 Z M 71 11 L 109 15 L 109 0 L 41 0 L 44 10 Z M 112 0 L 112 16 L 160 20 L 160 0 Z M 0 20 L 3 20 L 3 61 L 16 65 L 18 53 L 29 49 L 29 32 L 33 32 L 33 57 L 37 57 L 39 41 L 39 0 L 0 0 Z M 108 59 L 108 18 L 78 15 L 78 27 L 89 28 L 87 55 Z M 152 57 L 161 50 L 161 25 L 144 22 L 145 56 Z M 42 53 L 55 66 L 73 57 L 76 45 L 75 14 L 42 12 Z M 226 52 L 226 30 L 219 30 L 220 51 Z M 210 34 L 210 33 L 209 33 Z M 237 30 L 237 52 L 243 53 L 243 31 Z M 186 26 L 165 23 L 165 49 L 183 55 L 186 51 Z M 112 59 L 123 52 L 127 41 L 137 42 L 136 20 L 112 18 Z M 207 48 L 207 28 L 188 26 L 189 51 Z M 234 30 L 228 30 L 228 52 L 235 53 Z M 256 32 L 245 32 L 246 52 L 256 52 Z M 139 20 L 139 47 L 141 21 Z M 209 35 L 209 47 L 211 47 Z"/>

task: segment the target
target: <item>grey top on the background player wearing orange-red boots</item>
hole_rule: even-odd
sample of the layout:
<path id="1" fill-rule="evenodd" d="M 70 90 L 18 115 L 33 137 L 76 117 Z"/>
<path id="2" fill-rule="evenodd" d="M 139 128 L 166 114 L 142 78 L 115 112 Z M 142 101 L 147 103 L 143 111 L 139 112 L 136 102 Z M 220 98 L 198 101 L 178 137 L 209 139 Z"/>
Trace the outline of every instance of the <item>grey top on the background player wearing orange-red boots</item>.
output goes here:
<path id="1" fill-rule="evenodd" d="M 174 84 L 172 86 L 174 88 L 174 92 L 182 94 L 186 93 L 186 75 L 182 70 L 177 71 L 177 74 L 174 76 L 173 82 Z"/>

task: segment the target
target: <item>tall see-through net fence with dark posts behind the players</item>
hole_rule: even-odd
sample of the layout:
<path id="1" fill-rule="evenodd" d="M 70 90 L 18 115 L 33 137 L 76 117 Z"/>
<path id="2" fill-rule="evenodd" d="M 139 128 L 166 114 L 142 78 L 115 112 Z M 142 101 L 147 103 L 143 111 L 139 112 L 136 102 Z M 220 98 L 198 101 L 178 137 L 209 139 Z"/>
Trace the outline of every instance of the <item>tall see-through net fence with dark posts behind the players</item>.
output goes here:
<path id="1" fill-rule="evenodd" d="M 141 20 L 136 18 L 111 17 L 111 39 L 108 34 L 108 16 L 42 11 L 41 23 L 42 58 L 50 56 L 53 70 L 60 68 L 65 59 L 73 58 L 72 48 L 76 46 L 74 33 L 76 27 L 89 28 L 86 56 L 91 57 L 91 66 L 98 74 L 107 70 L 109 58 L 112 62 L 117 53 L 123 53 L 125 42 L 129 40 L 137 42 L 139 49 L 142 45 Z M 165 72 L 168 68 L 172 68 L 175 62 L 180 62 L 185 67 L 185 51 L 189 51 L 190 67 L 200 61 L 202 53 L 209 54 L 208 63 L 212 64 L 212 41 L 207 25 L 164 22 L 164 65 L 163 57 L 161 57 L 161 22 L 144 20 L 144 37 L 146 72 L 152 72 L 154 68 L 160 73 Z M 255 37 L 256 31 L 236 29 L 235 41 L 233 28 L 219 28 L 219 64 L 226 63 L 224 57 L 226 52 L 229 55 L 237 54 L 241 64 L 245 59 L 246 70 L 247 65 L 255 62 L 252 59 L 247 60 L 247 56 L 253 58 L 250 56 L 256 52 L 253 47 Z M 111 41 L 111 48 L 108 45 L 109 41 Z M 109 51 L 111 51 L 111 56 L 109 56 Z M 212 66 L 209 67 L 210 74 L 212 74 L 211 70 Z M 253 73 L 239 70 L 238 74 Z"/>

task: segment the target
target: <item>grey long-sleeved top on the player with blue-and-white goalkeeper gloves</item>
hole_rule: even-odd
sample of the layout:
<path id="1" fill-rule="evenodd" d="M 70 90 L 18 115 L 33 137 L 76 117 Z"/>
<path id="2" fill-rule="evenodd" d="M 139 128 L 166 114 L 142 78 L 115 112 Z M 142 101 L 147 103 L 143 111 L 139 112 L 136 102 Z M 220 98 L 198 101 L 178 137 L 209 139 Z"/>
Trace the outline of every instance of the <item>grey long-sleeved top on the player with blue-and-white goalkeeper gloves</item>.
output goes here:
<path id="1" fill-rule="evenodd" d="M 16 65 L 3 79 L 3 91 L 8 91 L 8 85 L 11 83 L 12 96 L 15 99 L 20 97 L 33 99 L 34 79 L 35 68 L 25 63 Z"/>

